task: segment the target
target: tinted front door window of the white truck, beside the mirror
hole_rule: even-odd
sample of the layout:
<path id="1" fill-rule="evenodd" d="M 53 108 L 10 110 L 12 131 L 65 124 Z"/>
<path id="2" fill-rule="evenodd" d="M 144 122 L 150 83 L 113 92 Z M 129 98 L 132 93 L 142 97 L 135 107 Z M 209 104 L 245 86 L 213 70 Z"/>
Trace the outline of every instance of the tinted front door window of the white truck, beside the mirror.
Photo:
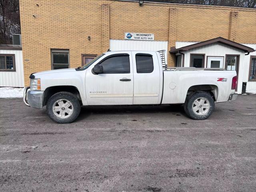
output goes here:
<path id="1" fill-rule="evenodd" d="M 103 73 L 130 73 L 129 56 L 113 56 L 102 61 Z"/>

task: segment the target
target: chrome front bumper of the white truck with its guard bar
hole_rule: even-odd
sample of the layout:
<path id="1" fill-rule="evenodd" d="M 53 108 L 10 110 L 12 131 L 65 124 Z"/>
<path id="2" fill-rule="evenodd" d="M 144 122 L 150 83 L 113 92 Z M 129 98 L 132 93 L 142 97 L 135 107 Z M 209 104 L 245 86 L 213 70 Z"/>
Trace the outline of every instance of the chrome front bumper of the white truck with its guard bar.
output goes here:
<path id="1" fill-rule="evenodd" d="M 30 87 L 26 87 L 23 94 L 23 101 L 26 106 L 30 106 L 36 109 L 43 108 L 43 91 L 32 91 Z"/>

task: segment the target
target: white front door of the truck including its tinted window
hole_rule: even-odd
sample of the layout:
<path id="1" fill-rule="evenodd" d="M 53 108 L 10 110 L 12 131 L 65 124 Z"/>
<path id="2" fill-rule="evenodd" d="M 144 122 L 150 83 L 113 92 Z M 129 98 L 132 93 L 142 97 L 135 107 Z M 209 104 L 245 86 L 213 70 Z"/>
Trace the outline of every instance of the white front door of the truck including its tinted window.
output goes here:
<path id="1" fill-rule="evenodd" d="M 92 68 L 103 67 L 102 74 Z M 131 52 L 103 57 L 86 71 L 85 88 L 88 105 L 130 105 L 133 103 L 133 66 Z"/>

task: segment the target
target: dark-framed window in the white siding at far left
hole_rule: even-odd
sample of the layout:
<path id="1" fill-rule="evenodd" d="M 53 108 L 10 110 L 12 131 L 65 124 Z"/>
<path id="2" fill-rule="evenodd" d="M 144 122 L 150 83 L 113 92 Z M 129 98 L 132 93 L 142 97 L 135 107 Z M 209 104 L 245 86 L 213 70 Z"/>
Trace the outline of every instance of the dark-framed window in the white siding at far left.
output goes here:
<path id="1" fill-rule="evenodd" d="M 0 54 L 0 71 L 16 71 L 15 54 Z"/>

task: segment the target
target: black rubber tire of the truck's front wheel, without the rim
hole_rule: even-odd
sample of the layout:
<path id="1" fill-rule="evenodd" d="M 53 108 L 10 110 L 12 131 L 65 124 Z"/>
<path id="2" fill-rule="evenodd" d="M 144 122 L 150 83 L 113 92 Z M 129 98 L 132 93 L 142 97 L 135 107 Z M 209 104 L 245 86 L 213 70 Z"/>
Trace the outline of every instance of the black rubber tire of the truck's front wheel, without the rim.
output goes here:
<path id="1" fill-rule="evenodd" d="M 60 118 L 54 114 L 52 107 L 53 107 L 54 103 L 57 102 L 58 100 L 68 100 L 72 104 L 72 106 L 70 106 L 71 109 L 73 109 L 72 113 L 67 118 Z M 48 116 L 56 123 L 60 123 L 60 124 L 71 123 L 74 120 L 76 120 L 76 118 L 80 114 L 81 104 L 80 104 L 78 98 L 76 96 L 74 96 L 72 93 L 58 92 L 49 98 L 49 100 L 46 104 L 46 111 L 48 113 Z"/>

